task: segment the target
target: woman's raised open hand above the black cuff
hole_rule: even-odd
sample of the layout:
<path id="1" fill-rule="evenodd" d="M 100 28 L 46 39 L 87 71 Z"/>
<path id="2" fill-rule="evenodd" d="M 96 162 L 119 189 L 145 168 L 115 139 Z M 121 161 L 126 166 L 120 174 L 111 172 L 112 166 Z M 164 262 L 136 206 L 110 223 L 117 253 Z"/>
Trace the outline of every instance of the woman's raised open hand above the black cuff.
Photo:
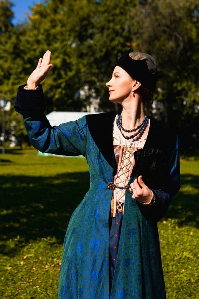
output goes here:
<path id="1" fill-rule="evenodd" d="M 41 83 L 41 81 L 45 79 L 47 72 L 53 66 L 50 64 L 50 57 L 51 52 L 46 51 L 46 53 L 43 55 L 43 58 L 39 59 L 36 69 L 28 78 L 28 88 L 35 89 Z"/>

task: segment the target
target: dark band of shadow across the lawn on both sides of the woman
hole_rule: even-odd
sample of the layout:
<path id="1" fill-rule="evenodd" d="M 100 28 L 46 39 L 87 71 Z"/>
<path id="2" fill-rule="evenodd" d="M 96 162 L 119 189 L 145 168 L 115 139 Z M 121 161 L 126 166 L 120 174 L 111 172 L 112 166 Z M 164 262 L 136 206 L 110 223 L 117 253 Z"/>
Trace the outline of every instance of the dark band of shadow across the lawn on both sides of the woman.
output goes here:
<path id="1" fill-rule="evenodd" d="M 166 217 L 177 219 L 179 225 L 198 226 L 199 195 L 187 190 L 190 185 L 199 189 L 199 176 L 182 175 L 183 185 L 188 186 L 186 194 L 180 191 L 175 196 Z M 63 244 L 71 214 L 88 189 L 88 172 L 51 177 L 0 176 L 0 253 L 14 256 L 30 240 L 48 236 Z M 8 246 L 17 236 L 18 246 Z"/>

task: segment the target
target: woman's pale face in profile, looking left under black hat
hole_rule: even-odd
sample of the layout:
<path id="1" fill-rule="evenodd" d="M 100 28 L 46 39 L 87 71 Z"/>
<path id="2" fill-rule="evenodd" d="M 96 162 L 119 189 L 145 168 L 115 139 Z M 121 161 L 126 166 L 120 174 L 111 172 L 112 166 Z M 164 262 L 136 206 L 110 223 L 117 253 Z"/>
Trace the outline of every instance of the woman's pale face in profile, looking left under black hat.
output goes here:
<path id="1" fill-rule="evenodd" d="M 109 89 L 111 102 L 121 103 L 126 98 L 132 97 L 133 80 L 120 66 L 116 66 L 112 78 L 106 83 Z"/>

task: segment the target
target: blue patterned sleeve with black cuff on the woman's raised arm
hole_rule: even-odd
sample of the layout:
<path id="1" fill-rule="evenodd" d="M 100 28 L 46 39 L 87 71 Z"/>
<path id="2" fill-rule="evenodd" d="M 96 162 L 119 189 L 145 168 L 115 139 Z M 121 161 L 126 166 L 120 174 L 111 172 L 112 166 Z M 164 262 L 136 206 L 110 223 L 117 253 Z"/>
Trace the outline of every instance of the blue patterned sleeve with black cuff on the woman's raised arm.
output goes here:
<path id="1" fill-rule="evenodd" d="M 31 144 L 43 153 L 84 156 L 86 117 L 51 126 L 44 114 L 45 99 L 42 86 L 37 90 L 24 90 L 24 86 L 19 86 L 14 108 L 23 115 Z"/>

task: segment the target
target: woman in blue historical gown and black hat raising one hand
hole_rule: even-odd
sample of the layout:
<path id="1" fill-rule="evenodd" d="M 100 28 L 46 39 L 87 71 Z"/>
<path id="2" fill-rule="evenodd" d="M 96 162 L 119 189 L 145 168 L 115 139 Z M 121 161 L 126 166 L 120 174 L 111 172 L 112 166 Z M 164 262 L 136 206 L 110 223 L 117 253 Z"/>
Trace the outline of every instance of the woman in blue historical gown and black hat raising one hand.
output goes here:
<path id="1" fill-rule="evenodd" d="M 145 117 L 156 61 L 133 49 L 117 61 L 106 86 L 121 115 L 87 115 L 51 127 L 40 85 L 50 55 L 19 87 L 15 110 L 36 149 L 88 162 L 90 189 L 64 238 L 58 299 L 165 299 L 157 221 L 180 189 L 179 153 L 176 134 Z"/>

